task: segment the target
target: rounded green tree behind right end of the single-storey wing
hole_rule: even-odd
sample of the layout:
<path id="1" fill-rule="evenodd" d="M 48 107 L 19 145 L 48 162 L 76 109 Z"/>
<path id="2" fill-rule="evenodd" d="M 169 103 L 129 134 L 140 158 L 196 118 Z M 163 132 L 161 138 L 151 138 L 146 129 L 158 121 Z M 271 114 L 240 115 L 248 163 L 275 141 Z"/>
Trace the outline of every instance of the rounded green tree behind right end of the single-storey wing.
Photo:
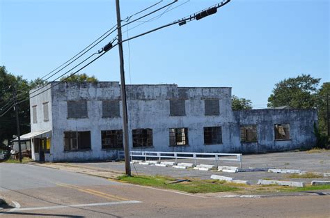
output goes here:
<path id="1" fill-rule="evenodd" d="M 321 79 L 299 75 L 275 84 L 268 107 L 290 106 L 297 109 L 317 107 L 317 86 Z"/>

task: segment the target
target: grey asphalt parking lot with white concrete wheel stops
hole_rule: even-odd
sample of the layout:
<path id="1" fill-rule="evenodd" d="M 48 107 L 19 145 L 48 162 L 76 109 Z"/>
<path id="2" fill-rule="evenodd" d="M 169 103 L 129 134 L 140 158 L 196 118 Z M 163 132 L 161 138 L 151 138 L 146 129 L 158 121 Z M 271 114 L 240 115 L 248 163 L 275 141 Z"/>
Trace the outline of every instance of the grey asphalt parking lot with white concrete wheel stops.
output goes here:
<path id="1" fill-rule="evenodd" d="M 308 153 L 305 151 L 294 151 L 285 153 L 267 153 L 258 155 L 243 155 L 243 167 L 249 168 L 274 168 L 274 169 L 299 169 L 301 171 L 330 173 L 330 152 Z M 168 160 L 174 161 L 174 160 Z M 192 163 L 192 159 L 180 159 L 179 162 Z M 197 164 L 212 164 L 215 162 L 208 160 L 198 160 Z M 74 165 L 84 167 L 93 166 L 100 170 L 113 170 L 125 172 L 124 162 L 83 162 L 74 163 Z M 315 178 L 288 178 L 286 173 L 268 173 L 268 172 L 239 172 L 225 173 L 217 170 L 198 171 L 194 169 L 174 169 L 172 167 L 162 167 L 155 165 L 131 164 L 132 173 L 139 175 L 160 175 L 171 176 L 173 178 L 201 178 L 210 179 L 212 174 L 228 176 L 237 180 L 249 180 L 251 184 L 256 184 L 258 179 L 272 180 L 292 180 L 309 183 Z M 219 166 L 239 166 L 237 162 L 219 162 Z M 329 180 L 329 178 L 317 178 L 317 180 Z"/>

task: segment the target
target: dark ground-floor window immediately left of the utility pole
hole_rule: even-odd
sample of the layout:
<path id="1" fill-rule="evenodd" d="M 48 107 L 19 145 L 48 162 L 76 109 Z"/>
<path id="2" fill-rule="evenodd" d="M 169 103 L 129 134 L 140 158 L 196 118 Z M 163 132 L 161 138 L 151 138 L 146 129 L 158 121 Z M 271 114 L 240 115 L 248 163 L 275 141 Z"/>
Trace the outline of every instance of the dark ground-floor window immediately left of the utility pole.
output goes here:
<path id="1" fill-rule="evenodd" d="M 123 130 L 101 131 L 102 149 L 123 148 Z"/>

